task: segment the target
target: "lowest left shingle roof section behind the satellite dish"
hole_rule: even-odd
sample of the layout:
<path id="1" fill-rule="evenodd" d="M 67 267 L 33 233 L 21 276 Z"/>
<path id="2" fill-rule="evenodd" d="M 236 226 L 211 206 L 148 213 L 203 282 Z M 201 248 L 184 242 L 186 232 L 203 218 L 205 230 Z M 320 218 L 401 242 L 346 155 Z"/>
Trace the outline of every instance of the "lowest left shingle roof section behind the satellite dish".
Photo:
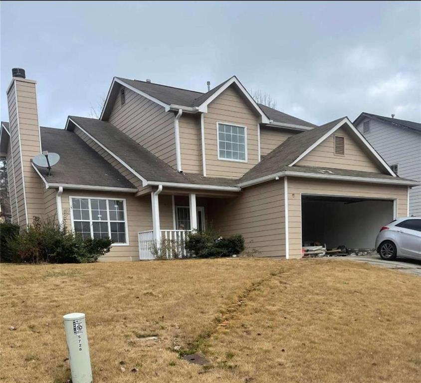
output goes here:
<path id="1" fill-rule="evenodd" d="M 50 177 L 47 169 L 37 167 L 48 183 L 136 189 L 73 132 L 46 127 L 41 127 L 40 132 L 42 150 L 60 156 Z"/>

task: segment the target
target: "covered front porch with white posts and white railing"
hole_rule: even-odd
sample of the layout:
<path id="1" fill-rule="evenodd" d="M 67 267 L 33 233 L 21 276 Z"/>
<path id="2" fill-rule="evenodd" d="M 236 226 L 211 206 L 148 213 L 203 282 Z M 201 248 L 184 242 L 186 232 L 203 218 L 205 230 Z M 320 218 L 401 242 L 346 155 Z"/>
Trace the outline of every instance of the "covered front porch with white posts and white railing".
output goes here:
<path id="1" fill-rule="evenodd" d="M 188 233 L 218 229 L 214 226 L 216 206 L 221 199 L 236 196 L 237 192 L 188 191 L 159 186 L 151 192 L 152 228 L 138 232 L 139 259 L 155 259 L 157 251 L 168 259 L 185 257 Z"/>

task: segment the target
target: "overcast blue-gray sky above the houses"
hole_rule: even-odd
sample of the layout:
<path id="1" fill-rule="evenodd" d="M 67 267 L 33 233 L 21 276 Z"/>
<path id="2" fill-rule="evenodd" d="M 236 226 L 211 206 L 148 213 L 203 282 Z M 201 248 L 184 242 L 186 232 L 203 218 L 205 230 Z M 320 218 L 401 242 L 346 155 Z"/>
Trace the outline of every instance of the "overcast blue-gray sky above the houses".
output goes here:
<path id="1" fill-rule="evenodd" d="M 362 111 L 421 121 L 421 2 L 1 2 L 1 119 L 11 68 L 39 122 L 88 116 L 113 76 L 206 91 L 235 74 L 322 124 Z"/>

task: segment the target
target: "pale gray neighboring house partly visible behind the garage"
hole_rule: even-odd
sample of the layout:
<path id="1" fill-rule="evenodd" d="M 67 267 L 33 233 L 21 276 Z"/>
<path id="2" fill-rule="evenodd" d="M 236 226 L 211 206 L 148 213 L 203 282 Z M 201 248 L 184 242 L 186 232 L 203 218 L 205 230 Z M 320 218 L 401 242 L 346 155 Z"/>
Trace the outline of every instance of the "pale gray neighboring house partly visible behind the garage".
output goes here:
<path id="1" fill-rule="evenodd" d="M 400 177 L 421 182 L 421 124 L 361 113 L 354 126 Z M 421 217 L 421 187 L 410 189 L 409 215 Z"/>

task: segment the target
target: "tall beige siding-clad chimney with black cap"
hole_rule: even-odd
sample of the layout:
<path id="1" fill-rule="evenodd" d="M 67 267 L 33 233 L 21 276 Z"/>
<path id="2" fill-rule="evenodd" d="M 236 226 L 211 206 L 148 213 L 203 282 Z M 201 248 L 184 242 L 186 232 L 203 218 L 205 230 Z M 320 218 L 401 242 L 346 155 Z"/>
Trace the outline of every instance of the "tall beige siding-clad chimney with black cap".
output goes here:
<path id="1" fill-rule="evenodd" d="M 33 216 L 44 213 L 42 182 L 31 165 L 31 159 L 41 153 L 41 140 L 36 82 L 26 79 L 21 68 L 13 68 L 12 76 L 7 88 L 12 159 L 7 168 L 9 183 L 13 182 L 10 203 L 13 223 L 25 227 Z"/>

